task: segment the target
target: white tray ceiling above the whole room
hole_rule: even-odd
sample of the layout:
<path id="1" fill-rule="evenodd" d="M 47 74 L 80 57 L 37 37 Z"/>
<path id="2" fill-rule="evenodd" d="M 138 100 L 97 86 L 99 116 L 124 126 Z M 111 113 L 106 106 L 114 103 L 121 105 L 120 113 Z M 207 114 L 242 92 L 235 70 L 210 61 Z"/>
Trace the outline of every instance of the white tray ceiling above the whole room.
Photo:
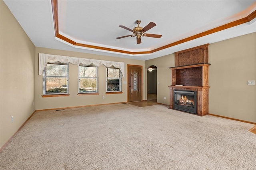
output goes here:
<path id="1" fill-rule="evenodd" d="M 256 32 L 256 18 L 251 22 L 222 30 L 195 40 L 180 43 L 150 54 L 130 55 L 113 51 L 71 45 L 55 38 L 52 4 L 50 0 L 4 0 L 36 47 L 63 49 L 147 60 L 205 43 L 214 43 Z M 108 47 L 124 51 L 150 51 L 201 32 L 228 24 L 248 16 L 256 10 L 255 0 L 58 0 L 59 34 L 77 43 Z M 156 26 L 148 34 L 161 38 L 135 37 L 116 39 L 132 32 L 136 20 L 144 27 L 150 22 Z"/>

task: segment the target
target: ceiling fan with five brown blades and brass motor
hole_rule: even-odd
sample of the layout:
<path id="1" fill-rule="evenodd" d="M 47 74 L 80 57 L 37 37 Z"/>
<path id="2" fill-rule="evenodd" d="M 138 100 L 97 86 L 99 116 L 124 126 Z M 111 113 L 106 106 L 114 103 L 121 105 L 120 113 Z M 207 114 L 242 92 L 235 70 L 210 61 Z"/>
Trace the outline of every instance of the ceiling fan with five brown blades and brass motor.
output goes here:
<path id="1" fill-rule="evenodd" d="M 118 37 L 116 39 L 120 39 L 120 38 L 125 38 L 125 37 L 136 37 L 137 39 L 137 44 L 141 43 L 141 37 L 153 37 L 153 38 L 161 38 L 162 35 L 158 35 L 158 34 L 145 34 L 146 31 L 148 31 L 149 29 L 153 28 L 154 26 L 156 26 L 156 24 L 154 22 L 150 22 L 148 25 L 146 25 L 144 28 L 140 27 L 140 20 L 136 20 L 136 23 L 138 24 L 137 27 L 134 27 L 134 29 L 130 29 L 127 28 L 125 26 L 120 26 L 121 28 L 124 28 L 128 31 L 131 31 L 133 34 L 132 35 L 128 35 L 128 36 L 122 36 L 122 37 Z"/>

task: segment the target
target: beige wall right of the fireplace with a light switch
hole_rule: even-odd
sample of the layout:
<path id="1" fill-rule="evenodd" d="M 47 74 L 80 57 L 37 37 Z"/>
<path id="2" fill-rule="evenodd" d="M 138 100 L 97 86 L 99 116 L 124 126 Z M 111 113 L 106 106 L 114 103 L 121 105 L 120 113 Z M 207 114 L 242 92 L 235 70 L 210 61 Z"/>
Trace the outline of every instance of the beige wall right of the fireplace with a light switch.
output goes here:
<path id="1" fill-rule="evenodd" d="M 256 123 L 256 33 L 209 45 L 209 112 Z"/>

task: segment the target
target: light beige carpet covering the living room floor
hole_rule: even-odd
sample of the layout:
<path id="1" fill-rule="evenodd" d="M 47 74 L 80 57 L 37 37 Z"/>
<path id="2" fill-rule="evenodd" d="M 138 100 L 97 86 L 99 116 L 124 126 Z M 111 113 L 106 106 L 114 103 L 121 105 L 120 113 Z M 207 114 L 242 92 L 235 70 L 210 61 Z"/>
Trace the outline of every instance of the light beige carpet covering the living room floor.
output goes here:
<path id="1" fill-rule="evenodd" d="M 40 111 L 1 152 L 1 170 L 255 170 L 252 124 L 164 105 Z"/>

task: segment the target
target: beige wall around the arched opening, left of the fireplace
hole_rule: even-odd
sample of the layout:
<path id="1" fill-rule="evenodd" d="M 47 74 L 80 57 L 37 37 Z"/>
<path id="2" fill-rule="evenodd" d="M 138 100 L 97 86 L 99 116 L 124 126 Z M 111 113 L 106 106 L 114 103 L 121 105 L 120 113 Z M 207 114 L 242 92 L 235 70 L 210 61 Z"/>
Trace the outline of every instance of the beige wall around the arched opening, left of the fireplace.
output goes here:
<path id="1" fill-rule="evenodd" d="M 168 85 L 171 85 L 172 74 L 169 67 L 175 66 L 175 56 L 174 54 L 165 55 L 163 57 L 158 57 L 155 59 L 150 59 L 145 61 L 145 69 L 150 65 L 155 65 L 157 67 L 157 102 L 165 105 L 169 105 L 170 102 L 170 92 Z M 147 77 L 146 77 L 147 82 Z M 147 91 L 147 87 L 146 87 Z M 164 99 L 166 97 L 166 99 Z"/>

